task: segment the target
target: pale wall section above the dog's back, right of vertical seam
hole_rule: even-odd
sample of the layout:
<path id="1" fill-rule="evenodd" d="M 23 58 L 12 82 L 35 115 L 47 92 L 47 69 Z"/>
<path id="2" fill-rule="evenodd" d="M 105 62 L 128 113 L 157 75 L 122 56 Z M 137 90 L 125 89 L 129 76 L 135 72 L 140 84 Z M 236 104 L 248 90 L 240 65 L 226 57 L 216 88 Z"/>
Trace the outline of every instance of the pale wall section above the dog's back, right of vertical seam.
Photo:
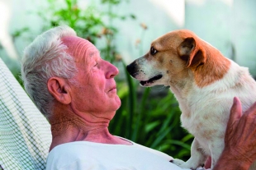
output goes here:
<path id="1" fill-rule="evenodd" d="M 256 76 L 256 1 L 187 1 L 185 27 Z"/>

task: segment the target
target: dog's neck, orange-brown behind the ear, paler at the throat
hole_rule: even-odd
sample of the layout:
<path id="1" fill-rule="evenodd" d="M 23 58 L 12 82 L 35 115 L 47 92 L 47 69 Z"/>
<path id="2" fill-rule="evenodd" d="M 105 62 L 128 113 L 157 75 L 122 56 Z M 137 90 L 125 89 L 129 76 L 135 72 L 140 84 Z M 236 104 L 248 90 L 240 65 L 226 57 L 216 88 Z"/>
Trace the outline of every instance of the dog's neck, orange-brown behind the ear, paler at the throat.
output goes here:
<path id="1" fill-rule="evenodd" d="M 170 90 L 178 100 L 187 99 L 195 87 L 202 89 L 211 85 L 217 80 L 221 80 L 229 71 L 231 62 L 224 57 L 219 50 L 205 44 L 206 63 L 193 68 L 184 69 L 178 77 L 173 77 L 169 82 Z M 210 50 L 211 48 L 211 50 Z"/>

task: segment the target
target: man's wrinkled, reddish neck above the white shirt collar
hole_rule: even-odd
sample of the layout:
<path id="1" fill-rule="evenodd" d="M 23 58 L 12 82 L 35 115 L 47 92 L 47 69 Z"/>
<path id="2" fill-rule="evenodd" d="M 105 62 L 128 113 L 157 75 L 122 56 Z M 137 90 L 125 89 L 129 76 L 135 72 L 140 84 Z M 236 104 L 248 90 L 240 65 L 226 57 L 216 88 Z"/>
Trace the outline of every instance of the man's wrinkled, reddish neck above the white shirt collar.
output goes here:
<path id="1" fill-rule="evenodd" d="M 108 131 L 109 121 L 88 121 L 74 113 L 59 114 L 51 117 L 52 144 L 50 150 L 56 145 L 73 141 L 91 141 L 105 144 L 131 145 L 126 140 L 112 136 Z M 71 115 L 71 116 L 70 116 Z"/>

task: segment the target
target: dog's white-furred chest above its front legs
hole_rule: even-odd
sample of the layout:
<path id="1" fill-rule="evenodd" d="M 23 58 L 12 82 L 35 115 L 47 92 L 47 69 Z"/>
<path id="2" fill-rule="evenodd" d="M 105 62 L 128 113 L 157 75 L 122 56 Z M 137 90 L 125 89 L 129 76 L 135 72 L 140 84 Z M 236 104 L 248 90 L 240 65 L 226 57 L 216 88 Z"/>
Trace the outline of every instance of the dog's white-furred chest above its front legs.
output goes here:
<path id="1" fill-rule="evenodd" d="M 182 111 L 182 126 L 197 139 L 212 140 L 224 137 L 233 97 L 195 91 L 178 101 Z"/>

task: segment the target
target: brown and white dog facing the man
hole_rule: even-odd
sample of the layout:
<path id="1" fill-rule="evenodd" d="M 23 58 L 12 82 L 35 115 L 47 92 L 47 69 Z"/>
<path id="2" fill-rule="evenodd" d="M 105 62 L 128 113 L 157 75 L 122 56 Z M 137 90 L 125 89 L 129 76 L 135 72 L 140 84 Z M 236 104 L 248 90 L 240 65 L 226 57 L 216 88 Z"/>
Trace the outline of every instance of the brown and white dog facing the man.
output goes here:
<path id="1" fill-rule="evenodd" d="M 130 63 L 127 71 L 142 86 L 169 86 L 178 99 L 182 126 L 195 136 L 191 158 L 173 160 L 182 168 L 196 169 L 207 156 L 213 168 L 224 148 L 234 97 L 239 97 L 244 111 L 256 100 L 256 82 L 248 68 L 239 67 L 190 30 L 155 39 L 149 52 Z"/>

